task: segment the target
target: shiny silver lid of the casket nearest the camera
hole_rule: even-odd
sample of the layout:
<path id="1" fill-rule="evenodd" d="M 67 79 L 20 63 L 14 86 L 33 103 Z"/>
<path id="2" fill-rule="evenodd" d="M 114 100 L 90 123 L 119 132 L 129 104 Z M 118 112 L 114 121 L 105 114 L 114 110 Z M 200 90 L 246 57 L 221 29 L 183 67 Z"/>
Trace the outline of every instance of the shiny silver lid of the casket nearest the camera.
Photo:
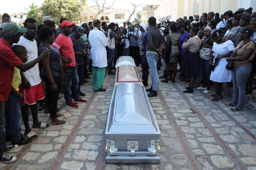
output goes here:
<path id="1" fill-rule="evenodd" d="M 144 87 L 122 83 L 114 87 L 106 135 L 160 136 L 155 115 Z"/>

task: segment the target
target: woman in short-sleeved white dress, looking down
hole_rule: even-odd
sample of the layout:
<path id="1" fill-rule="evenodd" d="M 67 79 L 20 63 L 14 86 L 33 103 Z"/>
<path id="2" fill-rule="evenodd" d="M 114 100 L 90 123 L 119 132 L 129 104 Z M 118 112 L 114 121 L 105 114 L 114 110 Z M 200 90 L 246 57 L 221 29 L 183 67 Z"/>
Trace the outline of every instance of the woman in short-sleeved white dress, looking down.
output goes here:
<path id="1" fill-rule="evenodd" d="M 228 64 L 226 58 L 230 57 L 235 47 L 231 40 L 223 37 L 223 32 L 221 29 L 212 33 L 212 41 L 214 41 L 214 43 L 210 55 L 209 65 L 211 66 L 212 63 L 218 61 L 218 65 L 215 66 L 210 76 L 210 80 L 212 80 L 216 90 L 216 94 L 212 95 L 212 97 L 214 97 L 212 101 L 218 101 L 222 98 L 222 83 L 231 81 L 231 71 L 226 69 L 226 65 Z"/>

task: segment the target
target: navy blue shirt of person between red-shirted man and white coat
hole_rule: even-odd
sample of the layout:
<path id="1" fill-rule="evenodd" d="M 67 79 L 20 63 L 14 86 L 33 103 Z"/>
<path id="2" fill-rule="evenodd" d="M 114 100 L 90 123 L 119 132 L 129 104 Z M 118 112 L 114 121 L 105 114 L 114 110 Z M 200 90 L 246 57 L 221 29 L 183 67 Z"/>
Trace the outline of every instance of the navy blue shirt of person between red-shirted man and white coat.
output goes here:
<path id="1" fill-rule="evenodd" d="M 82 38 L 79 38 L 79 40 L 76 39 L 76 36 L 73 34 L 71 34 L 69 36 L 69 38 L 71 39 L 72 43 L 73 43 L 73 48 L 74 48 L 74 51 L 77 52 L 77 51 L 80 51 L 82 54 L 83 54 L 83 49 L 86 49 L 85 45 L 84 45 L 84 42 L 83 42 L 83 39 Z M 75 58 L 76 58 L 76 64 L 77 65 L 82 65 L 84 64 L 84 56 L 79 56 L 79 55 L 76 55 L 75 54 Z"/>

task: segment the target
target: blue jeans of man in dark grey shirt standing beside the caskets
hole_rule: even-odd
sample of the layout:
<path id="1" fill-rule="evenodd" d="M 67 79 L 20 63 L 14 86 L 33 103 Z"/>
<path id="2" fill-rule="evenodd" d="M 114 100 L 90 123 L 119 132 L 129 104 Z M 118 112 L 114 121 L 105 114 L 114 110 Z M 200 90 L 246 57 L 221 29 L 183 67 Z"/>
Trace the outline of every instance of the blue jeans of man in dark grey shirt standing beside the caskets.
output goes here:
<path id="1" fill-rule="evenodd" d="M 156 63 L 158 61 L 158 55 L 153 54 L 153 53 L 147 53 L 147 60 L 148 60 L 148 66 L 149 66 L 149 71 L 151 72 L 152 76 L 152 87 L 153 91 L 157 91 L 158 89 L 158 72 L 157 72 L 157 66 Z"/>

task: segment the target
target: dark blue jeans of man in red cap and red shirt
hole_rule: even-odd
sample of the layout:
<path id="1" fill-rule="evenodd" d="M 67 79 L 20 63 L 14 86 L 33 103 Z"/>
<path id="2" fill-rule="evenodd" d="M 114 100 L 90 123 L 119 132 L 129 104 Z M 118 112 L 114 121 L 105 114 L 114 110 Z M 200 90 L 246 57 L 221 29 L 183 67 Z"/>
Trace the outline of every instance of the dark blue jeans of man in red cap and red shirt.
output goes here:
<path id="1" fill-rule="evenodd" d="M 69 80 L 69 85 L 63 86 L 63 92 L 64 92 L 64 98 L 66 100 L 66 104 L 69 104 L 72 102 L 72 98 L 71 98 L 71 94 L 70 94 L 71 85 L 72 85 L 72 96 L 76 100 L 80 99 L 78 83 L 79 83 L 79 78 L 77 76 L 77 70 L 75 68 L 72 73 L 72 79 Z"/>

